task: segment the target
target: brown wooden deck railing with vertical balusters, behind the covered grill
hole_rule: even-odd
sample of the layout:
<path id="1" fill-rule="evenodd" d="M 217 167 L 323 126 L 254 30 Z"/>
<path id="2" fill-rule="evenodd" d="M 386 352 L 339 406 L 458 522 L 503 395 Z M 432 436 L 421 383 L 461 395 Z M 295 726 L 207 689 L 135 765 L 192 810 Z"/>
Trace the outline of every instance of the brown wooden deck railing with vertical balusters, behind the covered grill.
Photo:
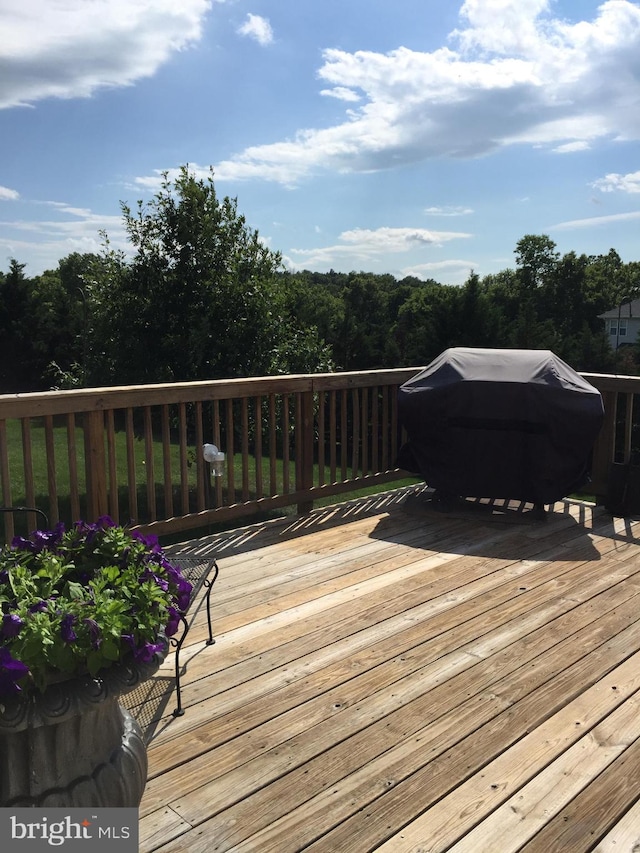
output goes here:
<path id="1" fill-rule="evenodd" d="M 305 511 L 408 476 L 396 466 L 397 390 L 419 369 L 0 395 L 0 500 L 51 525 L 108 514 L 159 534 Z M 610 462 L 631 452 L 640 378 L 585 375 L 605 403 L 590 487 L 603 496 Z M 225 453 L 222 477 L 205 443 Z M 4 525 L 10 538 L 11 514 Z"/>

